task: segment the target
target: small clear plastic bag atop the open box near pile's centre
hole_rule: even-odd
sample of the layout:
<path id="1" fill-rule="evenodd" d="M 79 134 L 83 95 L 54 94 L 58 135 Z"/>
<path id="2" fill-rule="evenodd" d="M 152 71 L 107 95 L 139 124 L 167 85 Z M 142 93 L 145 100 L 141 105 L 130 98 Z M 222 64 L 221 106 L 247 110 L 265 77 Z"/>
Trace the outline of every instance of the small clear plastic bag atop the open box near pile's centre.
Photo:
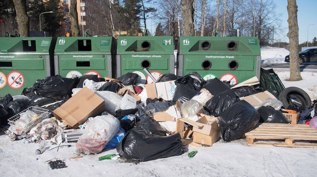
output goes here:
<path id="1" fill-rule="evenodd" d="M 196 100 L 189 100 L 180 107 L 180 114 L 182 117 L 194 117 L 197 113 L 204 113 L 204 107 Z"/>

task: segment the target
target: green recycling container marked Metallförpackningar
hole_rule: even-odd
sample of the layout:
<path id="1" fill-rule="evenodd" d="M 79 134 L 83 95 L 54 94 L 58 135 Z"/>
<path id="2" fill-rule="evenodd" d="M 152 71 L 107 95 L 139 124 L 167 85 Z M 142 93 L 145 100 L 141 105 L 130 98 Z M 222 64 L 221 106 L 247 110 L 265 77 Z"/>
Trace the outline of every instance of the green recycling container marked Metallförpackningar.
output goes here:
<path id="1" fill-rule="evenodd" d="M 117 41 L 113 37 L 58 37 L 55 46 L 55 74 L 73 78 L 95 74 L 114 78 Z"/>

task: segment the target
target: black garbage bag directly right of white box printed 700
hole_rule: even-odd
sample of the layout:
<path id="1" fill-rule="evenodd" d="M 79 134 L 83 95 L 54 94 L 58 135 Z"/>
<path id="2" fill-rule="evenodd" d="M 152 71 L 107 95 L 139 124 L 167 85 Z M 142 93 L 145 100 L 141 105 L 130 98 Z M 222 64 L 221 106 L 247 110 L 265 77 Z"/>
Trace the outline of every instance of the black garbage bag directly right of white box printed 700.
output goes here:
<path id="1" fill-rule="evenodd" d="M 183 84 L 179 84 L 174 92 L 172 102 L 184 103 L 197 95 L 198 91 L 191 89 Z"/>

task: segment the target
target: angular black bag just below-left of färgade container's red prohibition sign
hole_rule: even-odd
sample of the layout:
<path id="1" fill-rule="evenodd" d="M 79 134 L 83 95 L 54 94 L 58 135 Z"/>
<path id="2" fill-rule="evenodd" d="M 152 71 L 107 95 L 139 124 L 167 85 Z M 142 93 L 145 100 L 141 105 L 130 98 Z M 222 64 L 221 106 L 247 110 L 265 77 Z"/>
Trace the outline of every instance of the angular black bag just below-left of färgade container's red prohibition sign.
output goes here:
<path id="1" fill-rule="evenodd" d="M 207 89 L 213 96 L 223 91 L 231 90 L 229 86 L 220 81 L 218 78 L 208 80 L 208 82 L 203 86 L 203 88 Z"/>

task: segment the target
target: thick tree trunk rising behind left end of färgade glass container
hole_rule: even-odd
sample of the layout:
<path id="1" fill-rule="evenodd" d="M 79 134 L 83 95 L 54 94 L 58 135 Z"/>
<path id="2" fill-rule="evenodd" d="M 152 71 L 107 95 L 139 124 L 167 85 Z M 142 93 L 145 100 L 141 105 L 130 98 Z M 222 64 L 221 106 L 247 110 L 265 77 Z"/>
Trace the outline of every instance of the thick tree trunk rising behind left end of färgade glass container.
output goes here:
<path id="1" fill-rule="evenodd" d="M 184 36 L 194 36 L 194 0 L 181 0 Z"/>

